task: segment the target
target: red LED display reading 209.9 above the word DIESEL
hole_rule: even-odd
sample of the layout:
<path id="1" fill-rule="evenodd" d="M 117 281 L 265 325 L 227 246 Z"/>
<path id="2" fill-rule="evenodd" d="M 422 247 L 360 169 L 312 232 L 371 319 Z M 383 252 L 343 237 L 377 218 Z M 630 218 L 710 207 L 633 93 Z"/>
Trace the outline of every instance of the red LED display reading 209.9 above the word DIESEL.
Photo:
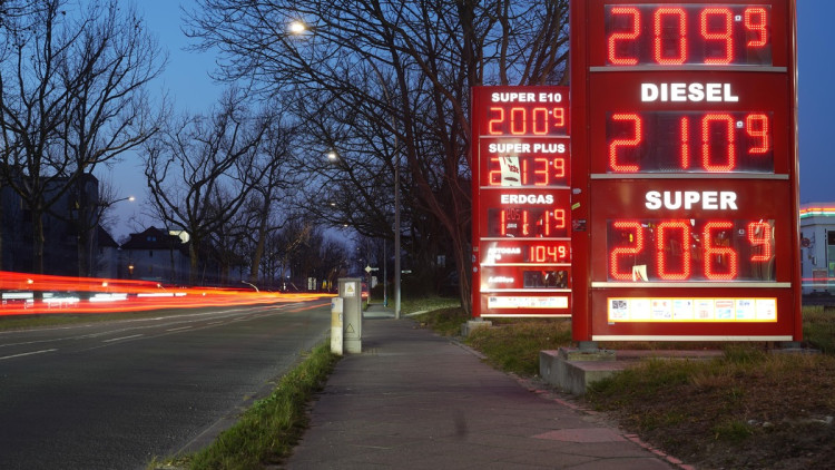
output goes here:
<path id="1" fill-rule="evenodd" d="M 607 4 L 607 66 L 770 66 L 772 11 L 760 4 Z"/>

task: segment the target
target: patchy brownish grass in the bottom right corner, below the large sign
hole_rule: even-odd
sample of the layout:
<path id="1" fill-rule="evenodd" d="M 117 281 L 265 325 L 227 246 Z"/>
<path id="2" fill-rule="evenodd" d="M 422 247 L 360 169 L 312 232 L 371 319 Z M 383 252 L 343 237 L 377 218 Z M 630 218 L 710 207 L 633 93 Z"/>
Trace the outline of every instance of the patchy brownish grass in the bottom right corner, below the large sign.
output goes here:
<path id="1" fill-rule="evenodd" d="M 823 424 L 835 415 L 833 388 L 833 356 L 735 345 L 709 361 L 649 361 L 592 384 L 583 400 L 698 467 L 816 468 L 835 459 L 835 448 L 816 444 L 835 437 Z"/>

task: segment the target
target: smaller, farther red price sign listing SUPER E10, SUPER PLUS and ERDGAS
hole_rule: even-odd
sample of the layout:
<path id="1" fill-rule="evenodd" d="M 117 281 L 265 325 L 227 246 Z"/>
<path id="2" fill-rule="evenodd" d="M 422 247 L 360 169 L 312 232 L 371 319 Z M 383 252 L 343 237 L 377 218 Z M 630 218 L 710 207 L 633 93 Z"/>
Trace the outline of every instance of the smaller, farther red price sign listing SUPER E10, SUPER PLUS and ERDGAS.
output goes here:
<path id="1" fill-rule="evenodd" d="M 569 315 L 568 136 L 568 88 L 473 88 L 473 316 Z"/>

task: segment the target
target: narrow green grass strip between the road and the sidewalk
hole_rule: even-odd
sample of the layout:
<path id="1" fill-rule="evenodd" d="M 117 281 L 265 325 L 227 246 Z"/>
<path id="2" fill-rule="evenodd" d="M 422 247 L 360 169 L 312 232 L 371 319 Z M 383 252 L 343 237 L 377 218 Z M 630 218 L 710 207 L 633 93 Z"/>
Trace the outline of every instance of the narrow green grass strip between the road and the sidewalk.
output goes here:
<path id="1" fill-rule="evenodd" d="M 304 433 L 307 403 L 322 390 L 336 360 L 330 341 L 318 345 L 210 445 L 166 462 L 155 460 L 149 468 L 248 470 L 279 463 Z"/>

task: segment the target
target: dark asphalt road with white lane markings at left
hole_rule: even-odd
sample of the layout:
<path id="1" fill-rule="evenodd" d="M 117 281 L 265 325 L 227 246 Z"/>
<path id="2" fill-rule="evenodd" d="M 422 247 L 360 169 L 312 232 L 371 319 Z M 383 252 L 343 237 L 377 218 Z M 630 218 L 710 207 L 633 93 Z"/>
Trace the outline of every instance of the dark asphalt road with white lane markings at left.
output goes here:
<path id="1" fill-rule="evenodd" d="M 330 300 L 0 332 L 0 468 L 144 469 L 325 337 Z"/>

